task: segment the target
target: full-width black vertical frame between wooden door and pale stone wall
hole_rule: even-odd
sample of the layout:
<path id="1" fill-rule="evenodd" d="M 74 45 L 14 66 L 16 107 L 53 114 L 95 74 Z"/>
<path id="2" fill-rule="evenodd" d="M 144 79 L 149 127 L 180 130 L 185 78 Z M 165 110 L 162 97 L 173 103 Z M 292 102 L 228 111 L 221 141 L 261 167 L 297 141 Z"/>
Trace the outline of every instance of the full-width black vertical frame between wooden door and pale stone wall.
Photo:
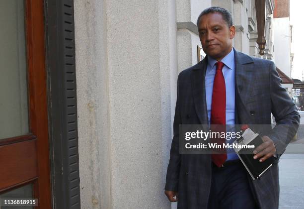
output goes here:
<path id="1" fill-rule="evenodd" d="M 80 209 L 73 0 L 45 0 L 54 209 Z"/>

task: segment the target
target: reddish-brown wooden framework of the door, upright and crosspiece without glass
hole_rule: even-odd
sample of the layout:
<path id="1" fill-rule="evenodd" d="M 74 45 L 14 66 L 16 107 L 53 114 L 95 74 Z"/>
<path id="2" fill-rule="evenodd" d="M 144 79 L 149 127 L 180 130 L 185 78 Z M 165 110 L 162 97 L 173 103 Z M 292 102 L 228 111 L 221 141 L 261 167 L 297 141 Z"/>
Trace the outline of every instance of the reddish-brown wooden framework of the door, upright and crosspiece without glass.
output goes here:
<path id="1" fill-rule="evenodd" d="M 51 209 L 44 3 L 24 2 L 30 133 L 0 141 L 0 192 L 33 183 L 35 208 Z"/>

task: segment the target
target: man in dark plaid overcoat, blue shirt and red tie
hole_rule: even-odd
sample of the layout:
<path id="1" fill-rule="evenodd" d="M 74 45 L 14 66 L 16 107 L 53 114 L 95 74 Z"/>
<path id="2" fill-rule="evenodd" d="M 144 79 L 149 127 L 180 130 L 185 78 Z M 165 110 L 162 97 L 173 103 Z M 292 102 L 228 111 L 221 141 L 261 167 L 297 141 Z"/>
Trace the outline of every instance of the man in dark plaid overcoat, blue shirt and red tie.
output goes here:
<path id="1" fill-rule="evenodd" d="M 296 134 L 300 115 L 275 64 L 232 47 L 235 27 L 226 9 L 205 9 L 197 25 L 207 56 L 178 76 L 165 194 L 178 209 L 277 209 L 278 159 Z M 271 113 L 277 125 L 262 137 L 254 158 L 263 162 L 275 155 L 277 160 L 260 180 L 251 179 L 235 153 L 179 154 L 179 124 L 271 124 Z"/>

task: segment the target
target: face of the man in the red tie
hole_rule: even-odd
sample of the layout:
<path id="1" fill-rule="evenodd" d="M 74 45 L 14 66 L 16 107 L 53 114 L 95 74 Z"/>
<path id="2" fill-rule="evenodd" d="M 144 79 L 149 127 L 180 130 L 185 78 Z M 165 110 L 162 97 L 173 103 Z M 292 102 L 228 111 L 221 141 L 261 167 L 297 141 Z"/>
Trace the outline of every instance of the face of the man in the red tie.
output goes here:
<path id="1" fill-rule="evenodd" d="M 231 51 L 235 27 L 229 28 L 222 14 L 215 12 L 201 16 L 198 29 L 207 55 L 219 61 Z"/>

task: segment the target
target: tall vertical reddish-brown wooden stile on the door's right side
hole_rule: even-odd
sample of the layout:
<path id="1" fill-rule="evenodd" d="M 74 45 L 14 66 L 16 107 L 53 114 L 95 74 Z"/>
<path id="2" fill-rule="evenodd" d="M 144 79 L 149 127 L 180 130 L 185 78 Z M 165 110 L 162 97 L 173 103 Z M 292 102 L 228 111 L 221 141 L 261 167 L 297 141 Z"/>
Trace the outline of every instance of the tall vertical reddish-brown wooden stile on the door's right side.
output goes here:
<path id="1" fill-rule="evenodd" d="M 25 0 L 26 45 L 31 130 L 37 136 L 38 208 L 51 209 L 48 105 L 45 65 L 44 3 Z M 32 70 L 31 70 L 32 69 Z M 39 105 L 37 105 L 39 104 Z M 35 191 L 35 188 L 38 191 Z"/>

